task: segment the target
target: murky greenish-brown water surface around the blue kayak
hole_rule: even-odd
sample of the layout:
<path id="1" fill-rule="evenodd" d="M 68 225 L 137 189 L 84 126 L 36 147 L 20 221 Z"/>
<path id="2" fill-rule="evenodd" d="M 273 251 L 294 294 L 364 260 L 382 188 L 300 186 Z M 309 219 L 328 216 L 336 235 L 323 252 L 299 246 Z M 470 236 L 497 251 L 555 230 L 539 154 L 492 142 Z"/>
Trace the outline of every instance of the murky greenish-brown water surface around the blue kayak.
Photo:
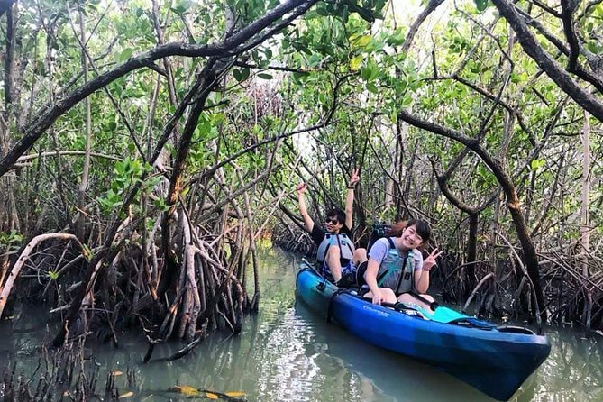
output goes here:
<path id="1" fill-rule="evenodd" d="M 134 370 L 136 384 L 116 379 L 123 400 L 187 400 L 165 391 L 175 385 L 242 391 L 249 401 L 492 401 L 458 379 L 424 364 L 362 343 L 322 316 L 296 302 L 297 261 L 276 250 L 260 259 L 260 313 L 247 316 L 237 337 L 215 334 L 178 361 L 160 361 L 181 344 L 162 344 L 153 360 L 142 364 L 147 343 L 142 337 L 120 337 L 120 347 L 96 346 L 101 364 L 100 388 L 109 370 Z M 27 320 L 22 317 L 27 316 Z M 16 312 L 0 323 L 0 369 L 17 361 L 33 371 L 44 326 L 30 312 Z M 548 327 L 550 357 L 511 400 L 603 401 L 603 336 L 575 329 Z M 199 400 L 199 399 L 196 399 Z"/>

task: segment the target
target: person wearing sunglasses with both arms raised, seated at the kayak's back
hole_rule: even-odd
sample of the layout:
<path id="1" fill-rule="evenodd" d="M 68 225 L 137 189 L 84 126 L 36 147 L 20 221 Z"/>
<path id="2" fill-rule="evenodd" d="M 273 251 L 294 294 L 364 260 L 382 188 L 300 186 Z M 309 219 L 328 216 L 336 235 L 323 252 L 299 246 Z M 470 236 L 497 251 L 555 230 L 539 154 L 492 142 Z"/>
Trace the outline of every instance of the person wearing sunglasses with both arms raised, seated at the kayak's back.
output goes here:
<path id="1" fill-rule="evenodd" d="M 352 213 L 354 187 L 360 181 L 358 169 L 352 171 L 345 196 L 345 211 L 333 208 L 326 213 L 324 227 L 315 224 L 308 215 L 306 206 L 306 183 L 297 185 L 299 213 L 304 220 L 304 229 L 318 246 L 316 260 L 324 278 L 338 284 L 348 273 L 354 273 L 362 261 L 367 260 L 365 249 L 356 249 L 352 242 Z"/>

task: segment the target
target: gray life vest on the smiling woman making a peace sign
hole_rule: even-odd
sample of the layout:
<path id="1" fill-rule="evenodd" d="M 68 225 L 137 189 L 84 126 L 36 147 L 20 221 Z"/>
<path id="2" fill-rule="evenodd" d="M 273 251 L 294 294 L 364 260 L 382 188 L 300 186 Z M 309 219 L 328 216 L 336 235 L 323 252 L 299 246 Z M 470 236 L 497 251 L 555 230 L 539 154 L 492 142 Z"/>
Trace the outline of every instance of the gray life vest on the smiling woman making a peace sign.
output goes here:
<path id="1" fill-rule="evenodd" d="M 377 285 L 392 289 L 396 295 L 410 292 L 415 289 L 415 252 L 409 250 L 401 256 L 389 237 L 388 242 L 388 255 L 377 271 Z"/>

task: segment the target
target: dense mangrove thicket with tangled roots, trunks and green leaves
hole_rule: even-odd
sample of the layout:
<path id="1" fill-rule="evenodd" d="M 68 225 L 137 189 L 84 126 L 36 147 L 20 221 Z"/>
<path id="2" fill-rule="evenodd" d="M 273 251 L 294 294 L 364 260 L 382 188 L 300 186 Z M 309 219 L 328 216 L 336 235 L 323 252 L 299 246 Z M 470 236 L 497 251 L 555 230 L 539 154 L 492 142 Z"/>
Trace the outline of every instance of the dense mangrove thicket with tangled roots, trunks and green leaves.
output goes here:
<path id="1" fill-rule="evenodd" d="M 357 240 L 428 220 L 444 297 L 600 327 L 600 0 L 0 12 L 0 315 L 43 300 L 54 345 L 238 333 L 259 240 L 307 244 L 295 185 L 320 219 L 353 168 Z"/>

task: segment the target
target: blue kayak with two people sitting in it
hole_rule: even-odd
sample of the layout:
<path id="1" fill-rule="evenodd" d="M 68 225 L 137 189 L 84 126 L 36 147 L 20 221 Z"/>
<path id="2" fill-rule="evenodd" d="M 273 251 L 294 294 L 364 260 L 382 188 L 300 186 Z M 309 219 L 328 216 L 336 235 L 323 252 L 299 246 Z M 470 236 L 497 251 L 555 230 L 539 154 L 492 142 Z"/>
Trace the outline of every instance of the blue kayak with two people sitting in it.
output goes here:
<path id="1" fill-rule="evenodd" d="M 297 273 L 297 297 L 365 342 L 424 361 L 498 400 L 512 397 L 551 351 L 548 339 L 529 329 L 460 318 L 443 324 L 373 305 L 310 269 Z"/>

